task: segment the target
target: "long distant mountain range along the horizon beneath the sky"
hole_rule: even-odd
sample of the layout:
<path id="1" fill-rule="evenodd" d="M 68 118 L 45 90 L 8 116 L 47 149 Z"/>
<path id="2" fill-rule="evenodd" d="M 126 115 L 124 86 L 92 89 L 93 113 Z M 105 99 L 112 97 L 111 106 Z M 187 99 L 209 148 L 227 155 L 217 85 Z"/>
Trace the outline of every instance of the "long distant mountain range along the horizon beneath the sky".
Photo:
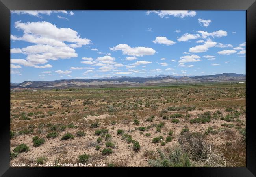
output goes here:
<path id="1" fill-rule="evenodd" d="M 55 81 L 25 81 L 19 84 L 10 83 L 15 88 L 65 88 L 65 87 L 126 87 L 140 85 L 161 85 L 171 83 L 201 83 L 221 81 L 245 81 L 246 75 L 223 73 L 203 76 L 158 75 L 150 77 L 114 76 L 100 79 L 61 79 Z"/>

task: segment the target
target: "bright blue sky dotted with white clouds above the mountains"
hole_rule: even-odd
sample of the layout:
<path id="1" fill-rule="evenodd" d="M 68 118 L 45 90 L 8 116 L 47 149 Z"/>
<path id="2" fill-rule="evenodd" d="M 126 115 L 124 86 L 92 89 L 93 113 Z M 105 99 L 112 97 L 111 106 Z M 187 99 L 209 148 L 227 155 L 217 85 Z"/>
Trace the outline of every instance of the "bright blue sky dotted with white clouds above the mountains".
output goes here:
<path id="1" fill-rule="evenodd" d="M 245 11 L 12 11 L 11 82 L 245 74 Z"/>

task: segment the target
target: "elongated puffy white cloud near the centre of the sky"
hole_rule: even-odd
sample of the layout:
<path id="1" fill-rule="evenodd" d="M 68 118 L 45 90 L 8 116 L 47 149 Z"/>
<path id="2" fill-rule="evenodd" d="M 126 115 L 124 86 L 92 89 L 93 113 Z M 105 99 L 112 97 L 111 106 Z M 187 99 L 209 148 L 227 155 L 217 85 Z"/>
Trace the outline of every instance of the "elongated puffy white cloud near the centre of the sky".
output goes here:
<path id="1" fill-rule="evenodd" d="M 113 48 L 110 48 L 110 50 L 116 51 L 121 50 L 124 55 L 132 55 L 137 57 L 142 57 L 145 55 L 154 55 L 156 51 L 152 48 L 148 47 L 130 47 L 127 44 L 119 44 Z"/>

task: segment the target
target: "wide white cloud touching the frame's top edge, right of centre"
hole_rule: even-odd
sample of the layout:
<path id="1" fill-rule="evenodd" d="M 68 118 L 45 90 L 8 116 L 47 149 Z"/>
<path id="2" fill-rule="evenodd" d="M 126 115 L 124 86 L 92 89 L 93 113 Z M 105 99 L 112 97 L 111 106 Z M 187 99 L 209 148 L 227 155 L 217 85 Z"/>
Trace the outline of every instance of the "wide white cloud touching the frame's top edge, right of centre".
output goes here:
<path id="1" fill-rule="evenodd" d="M 165 16 L 174 16 L 174 17 L 194 17 L 197 13 L 195 11 L 188 11 L 188 10 L 161 10 L 161 11 L 147 11 L 147 15 L 150 13 L 155 13 L 159 17 L 163 18 Z"/>

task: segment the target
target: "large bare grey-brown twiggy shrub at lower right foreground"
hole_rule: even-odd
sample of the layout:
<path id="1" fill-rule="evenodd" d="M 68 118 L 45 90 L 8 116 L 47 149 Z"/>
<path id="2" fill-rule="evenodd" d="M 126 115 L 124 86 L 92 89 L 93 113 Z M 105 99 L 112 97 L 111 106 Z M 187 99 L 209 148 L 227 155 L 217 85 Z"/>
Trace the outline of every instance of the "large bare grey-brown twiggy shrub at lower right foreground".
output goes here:
<path id="1" fill-rule="evenodd" d="M 178 138 L 182 149 L 189 153 L 194 160 L 205 159 L 208 153 L 205 136 L 202 133 L 186 133 Z"/>

